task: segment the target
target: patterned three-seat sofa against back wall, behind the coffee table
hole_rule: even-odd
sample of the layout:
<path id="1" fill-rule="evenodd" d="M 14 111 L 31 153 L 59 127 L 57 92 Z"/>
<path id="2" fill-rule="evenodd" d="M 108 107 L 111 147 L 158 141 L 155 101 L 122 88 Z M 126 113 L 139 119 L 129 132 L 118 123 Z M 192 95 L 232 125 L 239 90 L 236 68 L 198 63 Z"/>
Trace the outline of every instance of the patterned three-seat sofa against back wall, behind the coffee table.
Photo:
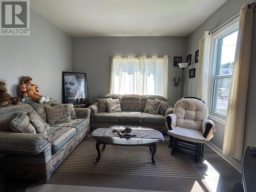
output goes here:
<path id="1" fill-rule="evenodd" d="M 173 113 L 173 108 L 168 106 L 164 115 L 152 115 L 144 113 L 147 99 L 161 99 L 167 101 L 165 97 L 159 95 L 120 95 L 120 94 L 103 94 L 98 98 L 119 99 L 122 112 L 108 113 L 98 112 L 97 103 L 89 106 L 91 110 L 90 125 L 91 131 L 99 127 L 109 127 L 114 125 L 137 125 L 145 126 L 162 133 L 167 133 L 166 116 Z"/>

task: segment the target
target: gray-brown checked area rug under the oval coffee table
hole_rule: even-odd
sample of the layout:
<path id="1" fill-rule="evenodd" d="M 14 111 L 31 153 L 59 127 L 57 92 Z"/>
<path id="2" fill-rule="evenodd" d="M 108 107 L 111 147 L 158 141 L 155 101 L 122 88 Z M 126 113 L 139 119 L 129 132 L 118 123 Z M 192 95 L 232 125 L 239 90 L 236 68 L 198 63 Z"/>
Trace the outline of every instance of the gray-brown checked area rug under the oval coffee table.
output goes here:
<path id="1" fill-rule="evenodd" d="M 155 165 L 148 146 L 106 145 L 101 150 L 101 159 L 96 162 L 95 143 L 83 140 L 57 171 L 202 179 L 185 155 L 170 155 L 166 142 L 157 144 Z"/>

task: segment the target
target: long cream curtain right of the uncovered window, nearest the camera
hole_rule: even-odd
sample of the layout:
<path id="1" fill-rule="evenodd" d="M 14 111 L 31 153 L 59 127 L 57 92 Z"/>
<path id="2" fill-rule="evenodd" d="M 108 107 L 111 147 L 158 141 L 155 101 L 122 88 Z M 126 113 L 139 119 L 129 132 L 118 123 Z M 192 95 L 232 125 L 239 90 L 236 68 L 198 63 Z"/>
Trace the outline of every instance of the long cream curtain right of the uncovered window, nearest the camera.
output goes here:
<path id="1" fill-rule="evenodd" d="M 247 89 L 249 79 L 253 9 L 244 5 L 240 11 L 236 58 L 229 92 L 223 154 L 242 159 Z"/>

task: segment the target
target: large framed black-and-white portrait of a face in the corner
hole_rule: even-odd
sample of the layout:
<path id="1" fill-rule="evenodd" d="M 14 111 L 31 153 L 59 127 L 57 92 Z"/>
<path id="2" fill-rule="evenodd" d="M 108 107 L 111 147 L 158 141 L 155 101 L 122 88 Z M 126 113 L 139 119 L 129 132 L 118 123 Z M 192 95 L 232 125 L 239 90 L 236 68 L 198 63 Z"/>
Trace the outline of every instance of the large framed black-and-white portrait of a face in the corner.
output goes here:
<path id="1" fill-rule="evenodd" d="M 62 93 L 63 103 L 87 103 L 86 73 L 62 72 Z"/>

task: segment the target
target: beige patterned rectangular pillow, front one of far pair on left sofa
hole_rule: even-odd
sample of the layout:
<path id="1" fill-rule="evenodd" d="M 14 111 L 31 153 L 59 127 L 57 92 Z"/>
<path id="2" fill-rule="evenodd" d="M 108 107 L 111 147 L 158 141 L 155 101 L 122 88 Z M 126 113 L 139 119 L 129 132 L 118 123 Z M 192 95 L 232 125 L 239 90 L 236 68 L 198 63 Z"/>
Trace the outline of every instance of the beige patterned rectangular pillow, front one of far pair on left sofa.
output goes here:
<path id="1" fill-rule="evenodd" d="M 50 125 L 71 121 L 68 105 L 46 106 L 46 116 Z"/>

